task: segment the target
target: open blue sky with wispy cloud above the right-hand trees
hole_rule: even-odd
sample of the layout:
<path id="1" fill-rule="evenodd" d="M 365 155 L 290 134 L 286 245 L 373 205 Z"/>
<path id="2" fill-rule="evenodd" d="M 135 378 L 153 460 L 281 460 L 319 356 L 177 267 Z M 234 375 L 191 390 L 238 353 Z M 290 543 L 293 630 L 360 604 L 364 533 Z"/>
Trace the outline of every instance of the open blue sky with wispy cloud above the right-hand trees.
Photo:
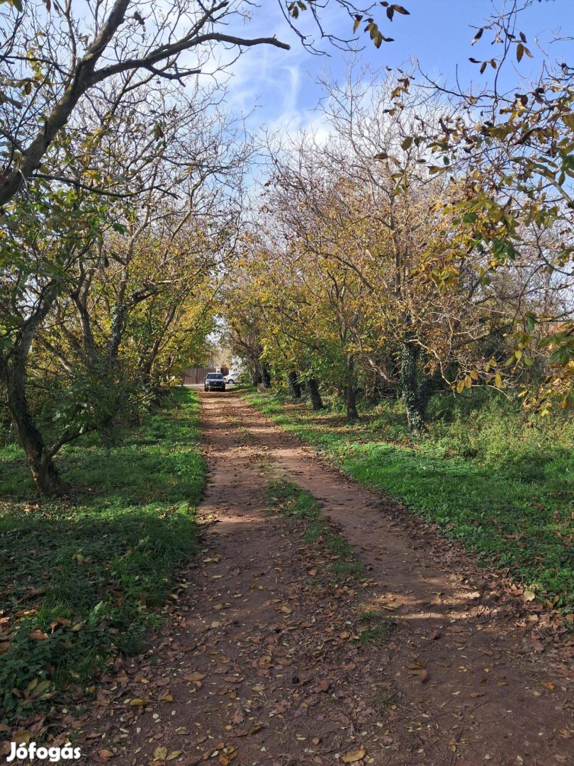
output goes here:
<path id="1" fill-rule="evenodd" d="M 484 83 L 486 75 L 481 77 L 478 66 L 471 64 L 468 57 L 489 59 L 501 46 L 491 45 L 492 36 L 488 31 L 474 46 L 471 40 L 492 8 L 499 8 L 502 2 L 504 0 L 402 0 L 402 5 L 410 11 L 409 16 L 395 15 L 389 22 L 383 21 L 383 14 L 380 15 L 381 31 L 395 41 L 383 43 L 377 50 L 365 35 L 360 59 L 377 68 L 402 64 L 409 68 L 409 61 L 416 59 L 431 77 L 445 76 L 450 83 L 455 81 L 458 66 L 458 78 L 465 87 L 472 80 Z M 341 34 L 350 33 L 349 18 L 337 11 L 332 2 L 328 8 L 325 26 Z M 307 19 L 305 14 L 301 19 L 307 20 L 308 14 Z M 526 34 L 533 58 L 524 56 L 516 67 L 507 62 L 510 66 L 504 70 L 505 87 L 516 88 L 520 75 L 536 77 L 539 74 L 543 61 L 539 46 L 549 51 L 553 59 L 574 64 L 572 41 L 550 44 L 556 36 L 574 35 L 574 0 L 534 2 L 520 15 L 517 28 Z M 327 47 L 328 56 L 308 53 L 287 27 L 276 0 L 261 0 L 260 7 L 254 9 L 253 20 L 236 31 L 253 36 L 275 34 L 292 48 L 291 51 L 267 46 L 252 48 L 233 64 L 227 98 L 233 113 L 250 113 L 247 120 L 250 129 L 262 125 L 282 130 L 320 127 L 321 116 L 314 111 L 321 97 L 321 87 L 316 81 L 325 72 L 340 78 L 348 56 L 333 47 Z M 489 67 L 488 74 L 492 71 Z"/>

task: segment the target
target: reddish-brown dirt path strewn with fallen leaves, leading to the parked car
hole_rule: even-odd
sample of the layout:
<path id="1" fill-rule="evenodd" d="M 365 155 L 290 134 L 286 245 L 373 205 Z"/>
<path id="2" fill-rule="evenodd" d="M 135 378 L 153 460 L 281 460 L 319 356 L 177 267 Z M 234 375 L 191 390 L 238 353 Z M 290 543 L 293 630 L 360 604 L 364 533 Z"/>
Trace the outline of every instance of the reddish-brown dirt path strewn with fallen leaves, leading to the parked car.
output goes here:
<path id="1" fill-rule="evenodd" d="M 574 764 L 572 642 L 540 607 L 237 394 L 201 398 L 200 563 L 148 653 L 103 679 L 87 762 Z M 334 557 L 267 512 L 273 476 L 321 501 L 367 580 L 316 576 Z M 380 646 L 357 640 L 373 609 L 394 624 Z"/>

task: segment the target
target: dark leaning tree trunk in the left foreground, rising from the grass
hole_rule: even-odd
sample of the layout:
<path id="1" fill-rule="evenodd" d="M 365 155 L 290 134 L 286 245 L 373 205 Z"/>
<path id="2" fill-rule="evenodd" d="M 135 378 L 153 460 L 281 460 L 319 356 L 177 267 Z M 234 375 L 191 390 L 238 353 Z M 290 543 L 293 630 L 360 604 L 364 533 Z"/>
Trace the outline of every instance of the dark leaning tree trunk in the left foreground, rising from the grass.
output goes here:
<path id="1" fill-rule="evenodd" d="M 17 359 L 9 366 L 3 365 L 3 372 L 8 409 L 14 421 L 18 440 L 26 454 L 34 483 L 45 496 L 60 495 L 63 492 L 60 476 L 28 408 L 24 388 L 24 365 Z"/>

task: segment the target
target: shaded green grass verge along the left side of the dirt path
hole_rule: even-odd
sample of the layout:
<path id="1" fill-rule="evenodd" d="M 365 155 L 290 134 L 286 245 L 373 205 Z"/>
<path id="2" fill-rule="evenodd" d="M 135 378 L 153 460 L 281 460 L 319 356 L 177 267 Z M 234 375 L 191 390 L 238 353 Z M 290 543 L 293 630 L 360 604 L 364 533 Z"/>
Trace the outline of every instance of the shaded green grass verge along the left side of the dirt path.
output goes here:
<path id="1" fill-rule="evenodd" d="M 38 499 L 21 450 L 0 450 L 0 720 L 70 706 L 118 653 L 142 650 L 197 546 L 198 406 L 178 391 L 118 447 L 69 447 L 65 499 Z"/>

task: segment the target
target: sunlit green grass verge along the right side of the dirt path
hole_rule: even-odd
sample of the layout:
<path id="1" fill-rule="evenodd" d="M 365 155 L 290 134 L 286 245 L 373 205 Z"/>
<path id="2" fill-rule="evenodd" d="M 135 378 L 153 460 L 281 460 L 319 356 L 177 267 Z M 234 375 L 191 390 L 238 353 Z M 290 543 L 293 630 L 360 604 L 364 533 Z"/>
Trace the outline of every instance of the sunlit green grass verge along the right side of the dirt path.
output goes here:
<path id="1" fill-rule="evenodd" d="M 436 396 L 429 434 L 413 439 L 398 402 L 347 424 L 279 394 L 247 401 L 367 486 L 384 489 L 457 538 L 478 561 L 504 568 L 574 612 L 574 422 L 524 414 L 478 391 Z"/>

